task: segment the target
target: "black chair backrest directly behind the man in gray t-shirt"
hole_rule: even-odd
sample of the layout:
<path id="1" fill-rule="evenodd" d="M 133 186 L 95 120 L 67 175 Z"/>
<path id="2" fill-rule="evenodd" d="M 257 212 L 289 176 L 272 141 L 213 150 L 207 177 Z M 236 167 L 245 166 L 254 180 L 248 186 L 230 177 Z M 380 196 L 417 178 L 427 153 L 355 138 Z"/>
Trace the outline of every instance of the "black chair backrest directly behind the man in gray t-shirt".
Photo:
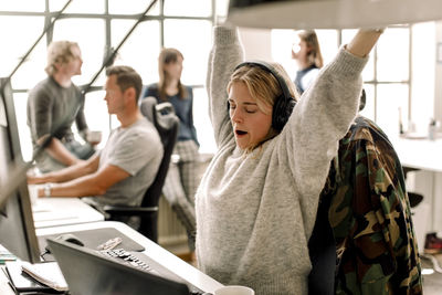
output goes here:
<path id="1" fill-rule="evenodd" d="M 177 141 L 179 118 L 175 114 L 173 106 L 170 103 L 157 104 L 154 97 L 144 98 L 140 110 L 157 128 L 164 147 L 162 160 L 158 168 L 157 176 L 147 189 L 141 202 L 141 207 L 156 207 L 161 196 L 170 158 Z"/>

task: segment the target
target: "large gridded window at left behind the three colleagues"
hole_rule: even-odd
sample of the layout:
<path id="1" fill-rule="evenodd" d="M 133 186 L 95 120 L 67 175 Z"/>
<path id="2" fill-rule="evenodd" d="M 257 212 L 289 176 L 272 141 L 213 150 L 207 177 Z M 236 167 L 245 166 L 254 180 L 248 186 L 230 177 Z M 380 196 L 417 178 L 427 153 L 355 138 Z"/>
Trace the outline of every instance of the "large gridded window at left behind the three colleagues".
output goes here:
<path id="1" fill-rule="evenodd" d="M 0 2 L 3 43 L 0 48 L 0 76 L 10 76 L 23 55 L 35 44 L 31 54 L 12 76 L 17 118 L 23 157 L 32 155 L 31 137 L 27 126 L 28 91 L 45 77 L 46 46 L 54 40 L 78 42 L 83 54 L 83 74 L 73 78 L 86 85 L 101 69 L 112 49 L 118 46 L 151 0 L 74 0 L 60 19 L 43 35 L 43 30 L 57 15 L 67 0 L 6 0 Z M 214 15 L 227 14 L 227 0 L 158 0 L 143 15 L 136 29 L 118 51 L 115 64 L 126 64 L 137 70 L 144 84 L 158 81 L 157 59 L 162 46 L 173 46 L 185 55 L 182 82 L 194 92 L 194 122 L 201 152 L 212 152 L 214 141 L 208 118 L 207 94 L 203 89 L 207 56 L 211 45 L 211 27 Z M 85 114 L 91 129 L 104 131 L 104 138 L 118 125 L 108 116 L 103 101 L 102 73 L 86 95 Z"/>

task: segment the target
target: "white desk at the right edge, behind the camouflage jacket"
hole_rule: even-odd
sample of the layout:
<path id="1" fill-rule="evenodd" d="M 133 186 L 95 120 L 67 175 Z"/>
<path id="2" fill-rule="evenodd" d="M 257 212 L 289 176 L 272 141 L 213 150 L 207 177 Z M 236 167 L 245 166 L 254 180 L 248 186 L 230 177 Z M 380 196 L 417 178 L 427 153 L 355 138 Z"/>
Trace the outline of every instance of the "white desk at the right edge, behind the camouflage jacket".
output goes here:
<path id="1" fill-rule="evenodd" d="M 442 172 L 442 138 L 390 138 L 402 166 Z"/>

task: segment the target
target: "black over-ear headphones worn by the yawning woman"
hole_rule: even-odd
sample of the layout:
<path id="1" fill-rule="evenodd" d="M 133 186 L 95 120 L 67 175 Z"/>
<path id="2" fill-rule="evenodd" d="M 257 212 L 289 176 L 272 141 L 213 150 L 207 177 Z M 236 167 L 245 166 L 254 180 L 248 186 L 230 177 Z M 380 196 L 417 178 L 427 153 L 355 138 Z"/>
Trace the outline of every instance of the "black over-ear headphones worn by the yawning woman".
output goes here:
<path id="1" fill-rule="evenodd" d="M 275 103 L 273 104 L 272 127 L 275 130 L 281 131 L 287 123 L 290 116 L 292 115 L 292 110 L 296 105 L 296 101 L 292 97 L 284 78 L 271 64 L 263 61 L 246 61 L 236 65 L 235 71 L 245 65 L 257 66 L 265 72 L 271 73 L 280 84 L 283 94 L 276 97 Z"/>

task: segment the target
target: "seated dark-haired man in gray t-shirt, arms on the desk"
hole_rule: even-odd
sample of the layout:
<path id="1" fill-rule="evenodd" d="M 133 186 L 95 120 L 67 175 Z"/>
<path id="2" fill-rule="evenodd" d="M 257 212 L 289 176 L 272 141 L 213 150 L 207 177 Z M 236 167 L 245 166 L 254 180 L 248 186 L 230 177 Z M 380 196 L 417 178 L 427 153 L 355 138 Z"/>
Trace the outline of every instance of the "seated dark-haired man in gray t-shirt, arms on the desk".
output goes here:
<path id="1" fill-rule="evenodd" d="M 29 176 L 29 183 L 46 183 L 39 189 L 39 197 L 94 196 L 97 206 L 139 206 L 154 182 L 164 150 L 156 128 L 138 108 L 141 78 L 129 66 L 109 67 L 106 75 L 107 109 L 120 126 L 91 159 L 60 171 Z"/>

